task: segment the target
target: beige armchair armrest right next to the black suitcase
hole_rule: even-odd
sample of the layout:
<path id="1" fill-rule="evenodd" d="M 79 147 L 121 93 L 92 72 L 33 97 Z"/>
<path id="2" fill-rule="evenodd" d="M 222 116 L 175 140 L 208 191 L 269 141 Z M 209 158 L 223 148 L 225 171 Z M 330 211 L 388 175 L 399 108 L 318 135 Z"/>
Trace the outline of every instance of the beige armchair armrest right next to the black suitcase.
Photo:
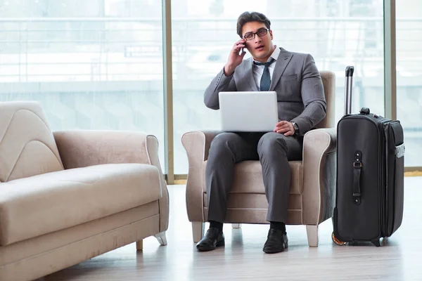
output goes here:
<path id="1" fill-rule="evenodd" d="M 303 223 L 319 225 L 333 216 L 336 176 L 335 128 L 315 129 L 303 141 Z"/>

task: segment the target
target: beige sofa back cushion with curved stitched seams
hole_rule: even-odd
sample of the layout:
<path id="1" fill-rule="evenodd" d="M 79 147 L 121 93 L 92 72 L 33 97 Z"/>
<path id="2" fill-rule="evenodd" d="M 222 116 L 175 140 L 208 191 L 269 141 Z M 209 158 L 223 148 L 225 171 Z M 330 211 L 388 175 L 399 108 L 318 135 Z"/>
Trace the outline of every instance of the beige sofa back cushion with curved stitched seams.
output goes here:
<path id="1" fill-rule="evenodd" d="M 61 170 L 63 163 L 39 103 L 0 103 L 0 181 Z"/>

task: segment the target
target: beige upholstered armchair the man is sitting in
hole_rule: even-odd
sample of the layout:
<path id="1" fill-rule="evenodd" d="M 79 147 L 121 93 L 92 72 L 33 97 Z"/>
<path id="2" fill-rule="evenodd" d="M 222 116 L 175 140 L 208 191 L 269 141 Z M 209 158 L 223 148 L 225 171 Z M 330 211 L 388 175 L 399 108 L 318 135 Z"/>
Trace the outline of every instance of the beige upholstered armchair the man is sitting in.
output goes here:
<path id="1" fill-rule="evenodd" d="M 318 226 L 333 215 L 335 200 L 335 75 L 321 71 L 327 112 L 317 129 L 305 134 L 302 161 L 291 161 L 288 225 L 305 225 L 309 246 L 318 246 Z M 186 208 L 192 223 L 193 242 L 204 235 L 207 221 L 205 166 L 216 131 L 184 133 L 181 142 L 188 155 Z M 268 202 L 259 161 L 236 164 L 225 223 L 269 223 Z"/>

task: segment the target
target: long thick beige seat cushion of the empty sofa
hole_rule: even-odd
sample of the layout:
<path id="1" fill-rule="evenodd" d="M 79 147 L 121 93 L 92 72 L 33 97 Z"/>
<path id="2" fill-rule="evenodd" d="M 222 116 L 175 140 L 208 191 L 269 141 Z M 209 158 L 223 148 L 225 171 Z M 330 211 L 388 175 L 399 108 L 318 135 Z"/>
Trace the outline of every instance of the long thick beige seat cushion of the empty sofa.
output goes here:
<path id="1" fill-rule="evenodd" d="M 162 197 L 148 164 L 102 164 L 0 184 L 0 246 L 103 218 Z"/>

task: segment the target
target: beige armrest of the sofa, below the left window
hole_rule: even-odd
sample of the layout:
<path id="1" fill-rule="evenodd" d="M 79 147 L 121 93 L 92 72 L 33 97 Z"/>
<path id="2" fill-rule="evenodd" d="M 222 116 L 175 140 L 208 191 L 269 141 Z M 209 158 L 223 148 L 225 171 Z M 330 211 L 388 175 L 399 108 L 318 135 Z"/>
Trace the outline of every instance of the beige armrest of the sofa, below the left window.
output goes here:
<path id="1" fill-rule="evenodd" d="M 160 231 L 167 230 L 169 200 L 158 158 L 158 140 L 155 136 L 130 131 L 55 131 L 58 152 L 65 169 L 98 164 L 151 164 L 160 171 Z"/>

